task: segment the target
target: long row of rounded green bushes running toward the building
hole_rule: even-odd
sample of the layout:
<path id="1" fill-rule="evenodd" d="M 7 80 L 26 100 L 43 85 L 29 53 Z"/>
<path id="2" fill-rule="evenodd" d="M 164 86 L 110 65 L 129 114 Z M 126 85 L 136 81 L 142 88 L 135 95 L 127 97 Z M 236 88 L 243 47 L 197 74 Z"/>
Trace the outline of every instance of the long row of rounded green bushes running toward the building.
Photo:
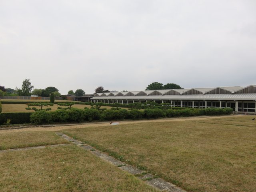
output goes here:
<path id="1" fill-rule="evenodd" d="M 31 122 L 35 124 L 51 123 L 51 122 L 83 122 L 92 120 L 123 120 L 142 118 L 160 118 L 160 117 L 178 117 L 178 116 L 196 116 L 196 115 L 221 115 L 231 114 L 232 109 L 200 109 L 200 110 L 161 110 L 161 109 L 146 109 L 146 110 L 104 110 L 86 108 L 84 110 L 71 108 L 70 110 L 56 110 L 54 112 L 38 111 L 31 114 Z"/>

